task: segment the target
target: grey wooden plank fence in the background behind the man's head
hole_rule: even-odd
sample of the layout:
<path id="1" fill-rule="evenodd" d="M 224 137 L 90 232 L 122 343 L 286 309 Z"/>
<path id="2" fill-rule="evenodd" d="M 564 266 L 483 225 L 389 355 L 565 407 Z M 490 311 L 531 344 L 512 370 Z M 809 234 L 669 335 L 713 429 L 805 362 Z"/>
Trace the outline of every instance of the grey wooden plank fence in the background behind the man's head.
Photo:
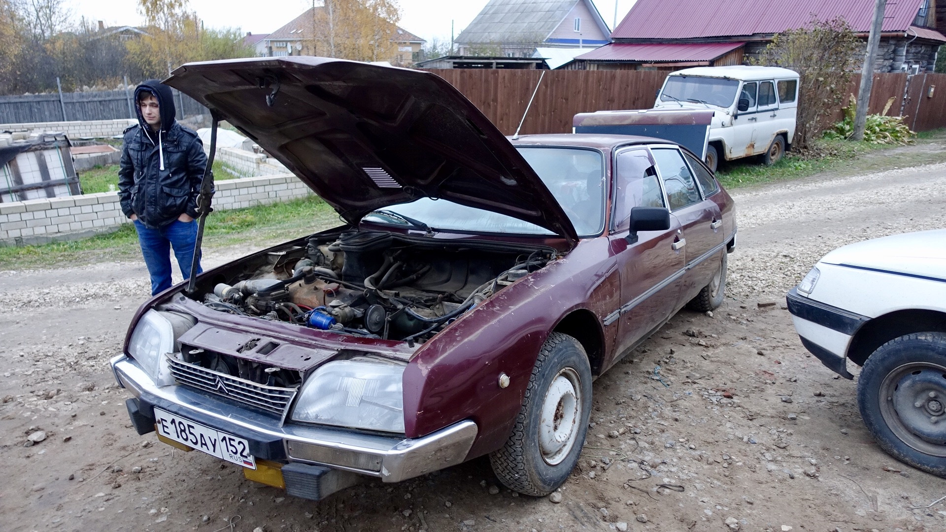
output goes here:
<path id="1" fill-rule="evenodd" d="M 172 89 L 177 117 L 209 115 L 205 107 Z M 133 118 L 133 91 L 89 91 L 0 97 L 0 123 L 60 122 Z M 65 116 L 63 116 L 63 109 Z"/>

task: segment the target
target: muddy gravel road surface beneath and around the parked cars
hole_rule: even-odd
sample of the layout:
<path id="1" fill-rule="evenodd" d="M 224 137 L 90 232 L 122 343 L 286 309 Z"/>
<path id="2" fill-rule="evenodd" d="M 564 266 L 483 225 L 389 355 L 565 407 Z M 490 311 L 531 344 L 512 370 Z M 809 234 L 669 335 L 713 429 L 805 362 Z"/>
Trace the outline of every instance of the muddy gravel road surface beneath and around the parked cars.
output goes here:
<path id="1" fill-rule="evenodd" d="M 726 303 L 681 312 L 595 382 L 559 503 L 502 488 L 485 458 L 321 503 L 254 484 L 131 429 L 107 361 L 147 296 L 143 264 L 0 272 L 0 530 L 946 530 L 946 502 L 909 508 L 946 480 L 877 447 L 855 383 L 805 351 L 783 297 L 837 246 L 946 226 L 944 176 L 937 164 L 733 194 Z"/>

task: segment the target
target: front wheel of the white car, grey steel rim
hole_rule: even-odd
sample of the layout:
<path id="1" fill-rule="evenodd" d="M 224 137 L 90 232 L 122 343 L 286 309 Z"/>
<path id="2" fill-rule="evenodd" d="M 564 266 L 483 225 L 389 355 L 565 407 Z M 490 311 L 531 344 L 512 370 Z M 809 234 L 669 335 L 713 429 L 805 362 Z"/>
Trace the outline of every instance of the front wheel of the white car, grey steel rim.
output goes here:
<path id="1" fill-rule="evenodd" d="M 946 477 L 946 333 L 907 334 L 878 347 L 857 381 L 857 404 L 885 452 Z"/>

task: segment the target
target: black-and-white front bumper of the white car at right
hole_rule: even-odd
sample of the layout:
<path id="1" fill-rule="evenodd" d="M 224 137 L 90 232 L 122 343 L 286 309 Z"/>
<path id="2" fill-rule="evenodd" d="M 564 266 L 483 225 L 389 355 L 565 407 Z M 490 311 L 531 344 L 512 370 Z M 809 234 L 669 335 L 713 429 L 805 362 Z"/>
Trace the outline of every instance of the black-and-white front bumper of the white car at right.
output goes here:
<path id="1" fill-rule="evenodd" d="M 854 333 L 870 318 L 804 297 L 797 288 L 785 300 L 801 344 L 834 373 L 853 379 L 848 371 L 848 346 Z"/>

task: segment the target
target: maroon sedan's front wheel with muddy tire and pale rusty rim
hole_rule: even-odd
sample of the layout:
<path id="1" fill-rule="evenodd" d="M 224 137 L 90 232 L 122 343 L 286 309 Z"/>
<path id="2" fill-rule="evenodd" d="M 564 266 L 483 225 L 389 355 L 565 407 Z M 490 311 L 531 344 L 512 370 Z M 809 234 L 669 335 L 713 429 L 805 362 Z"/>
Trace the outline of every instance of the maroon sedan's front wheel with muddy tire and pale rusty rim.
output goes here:
<path id="1" fill-rule="evenodd" d="M 543 418 L 553 423 L 543 423 Z M 585 348 L 552 332 L 539 350 L 522 409 L 505 445 L 489 455 L 499 482 L 541 497 L 565 484 L 578 463 L 591 416 L 591 366 Z"/>

